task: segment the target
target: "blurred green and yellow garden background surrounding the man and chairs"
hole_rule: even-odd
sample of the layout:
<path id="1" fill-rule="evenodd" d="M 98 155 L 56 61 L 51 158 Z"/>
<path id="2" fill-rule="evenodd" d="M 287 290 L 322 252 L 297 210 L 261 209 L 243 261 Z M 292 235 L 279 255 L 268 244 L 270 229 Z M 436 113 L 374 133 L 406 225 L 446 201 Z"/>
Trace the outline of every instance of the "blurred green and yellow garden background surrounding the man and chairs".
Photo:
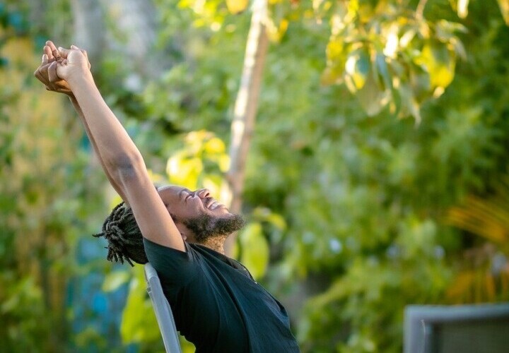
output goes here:
<path id="1" fill-rule="evenodd" d="M 509 300 L 509 1 L 262 5 L 0 3 L 2 352 L 163 352 L 143 268 L 91 237 L 119 198 L 33 78 L 49 39 L 88 51 L 155 183 L 221 197 L 261 26 L 230 254 L 303 352 L 401 352 L 407 304 Z"/>

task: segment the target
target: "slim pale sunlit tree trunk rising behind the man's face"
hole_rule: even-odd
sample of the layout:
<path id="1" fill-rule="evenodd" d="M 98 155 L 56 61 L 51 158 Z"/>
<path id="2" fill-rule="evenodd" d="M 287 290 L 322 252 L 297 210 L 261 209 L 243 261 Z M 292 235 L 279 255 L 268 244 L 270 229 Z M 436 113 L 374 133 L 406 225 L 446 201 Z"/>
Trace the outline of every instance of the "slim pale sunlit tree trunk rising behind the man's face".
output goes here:
<path id="1" fill-rule="evenodd" d="M 262 73 L 269 40 L 264 25 L 267 0 L 254 1 L 252 19 L 245 50 L 244 67 L 238 90 L 230 141 L 230 169 L 227 173 L 230 195 L 230 212 L 240 213 L 245 181 L 245 163 L 254 130 Z M 236 234 L 225 244 L 226 255 L 231 255 Z"/>

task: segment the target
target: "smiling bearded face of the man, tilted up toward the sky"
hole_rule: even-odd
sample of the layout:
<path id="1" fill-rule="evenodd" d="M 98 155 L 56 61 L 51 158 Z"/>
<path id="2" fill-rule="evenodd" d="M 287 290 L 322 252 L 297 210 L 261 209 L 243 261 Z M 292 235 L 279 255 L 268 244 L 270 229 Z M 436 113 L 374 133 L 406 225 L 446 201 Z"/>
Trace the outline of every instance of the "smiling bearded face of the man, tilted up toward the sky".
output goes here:
<path id="1" fill-rule="evenodd" d="M 189 242 L 202 243 L 210 237 L 228 235 L 244 225 L 242 217 L 229 213 L 207 189 L 190 191 L 181 186 L 164 186 L 158 193 Z"/>

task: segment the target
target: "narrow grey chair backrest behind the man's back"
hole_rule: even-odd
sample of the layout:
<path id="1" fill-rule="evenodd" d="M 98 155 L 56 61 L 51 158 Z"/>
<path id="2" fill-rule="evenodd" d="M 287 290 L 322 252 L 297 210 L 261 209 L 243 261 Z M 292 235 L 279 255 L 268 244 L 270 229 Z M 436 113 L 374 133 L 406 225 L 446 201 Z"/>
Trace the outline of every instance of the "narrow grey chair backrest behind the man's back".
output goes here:
<path id="1" fill-rule="evenodd" d="M 175 327 L 175 320 L 168 304 L 168 300 L 163 293 L 163 287 L 160 285 L 160 280 L 156 270 L 150 263 L 144 265 L 145 278 L 147 282 L 147 292 L 151 297 L 152 306 L 156 311 L 156 318 L 158 321 L 161 335 L 167 353 L 182 353 L 180 349 L 180 342 Z"/>

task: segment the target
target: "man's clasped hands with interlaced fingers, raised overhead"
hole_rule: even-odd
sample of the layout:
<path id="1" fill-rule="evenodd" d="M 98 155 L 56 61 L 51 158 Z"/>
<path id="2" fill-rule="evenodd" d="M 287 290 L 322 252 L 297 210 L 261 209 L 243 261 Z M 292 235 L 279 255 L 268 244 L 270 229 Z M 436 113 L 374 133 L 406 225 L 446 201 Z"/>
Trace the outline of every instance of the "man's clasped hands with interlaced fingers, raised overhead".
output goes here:
<path id="1" fill-rule="evenodd" d="M 67 80 L 80 69 L 90 70 L 86 51 L 75 45 L 71 45 L 71 49 L 57 48 L 49 40 L 43 51 L 42 63 L 34 72 L 35 78 L 45 85 L 46 90 L 72 97 L 73 92 Z"/>

